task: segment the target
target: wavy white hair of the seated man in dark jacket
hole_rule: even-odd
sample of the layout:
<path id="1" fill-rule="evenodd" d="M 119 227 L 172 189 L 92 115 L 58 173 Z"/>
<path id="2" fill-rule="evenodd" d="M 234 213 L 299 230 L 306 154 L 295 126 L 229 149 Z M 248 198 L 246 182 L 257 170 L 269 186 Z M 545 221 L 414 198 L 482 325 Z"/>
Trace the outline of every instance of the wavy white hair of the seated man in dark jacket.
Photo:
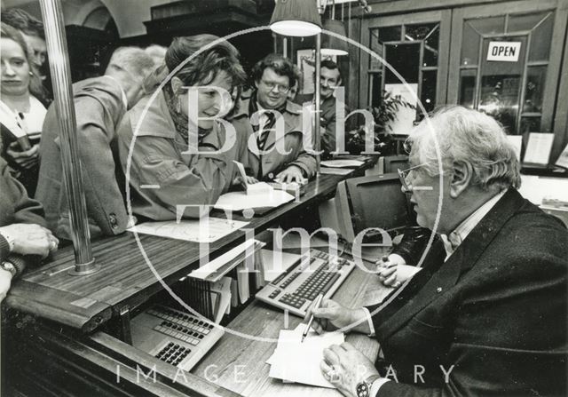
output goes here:
<path id="1" fill-rule="evenodd" d="M 520 187 L 515 148 L 493 117 L 466 107 L 441 107 L 430 115 L 430 122 L 424 119 L 414 128 L 408 138 L 412 145 L 410 156 L 416 163 L 424 164 L 422 169 L 432 176 L 439 173 L 433 134 L 438 140 L 444 171 L 451 170 L 454 163 L 466 163 L 473 170 L 474 186 L 484 190 Z"/>

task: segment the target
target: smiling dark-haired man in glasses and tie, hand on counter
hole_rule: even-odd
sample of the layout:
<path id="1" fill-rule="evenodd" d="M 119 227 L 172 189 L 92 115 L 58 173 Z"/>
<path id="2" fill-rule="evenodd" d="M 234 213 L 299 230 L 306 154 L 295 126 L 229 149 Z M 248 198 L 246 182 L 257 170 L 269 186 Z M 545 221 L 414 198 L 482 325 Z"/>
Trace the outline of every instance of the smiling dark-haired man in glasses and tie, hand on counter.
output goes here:
<path id="1" fill-rule="evenodd" d="M 254 179 L 304 182 L 315 174 L 316 159 L 304 148 L 312 142 L 304 134 L 302 107 L 288 100 L 296 83 L 294 65 L 270 54 L 256 63 L 252 74 L 255 89 L 241 95 L 233 116 L 235 129 L 244 129 L 248 137 L 248 158 L 242 163 Z"/>

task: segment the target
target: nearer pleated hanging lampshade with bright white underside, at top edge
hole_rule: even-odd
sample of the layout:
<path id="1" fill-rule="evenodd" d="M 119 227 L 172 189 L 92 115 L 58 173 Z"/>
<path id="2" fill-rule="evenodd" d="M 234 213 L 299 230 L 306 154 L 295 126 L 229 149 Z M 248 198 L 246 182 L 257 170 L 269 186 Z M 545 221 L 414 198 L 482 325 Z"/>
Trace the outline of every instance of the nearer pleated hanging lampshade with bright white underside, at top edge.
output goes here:
<path id="1" fill-rule="evenodd" d="M 321 32 L 316 0 L 276 0 L 272 32 L 282 36 L 314 36 Z"/>

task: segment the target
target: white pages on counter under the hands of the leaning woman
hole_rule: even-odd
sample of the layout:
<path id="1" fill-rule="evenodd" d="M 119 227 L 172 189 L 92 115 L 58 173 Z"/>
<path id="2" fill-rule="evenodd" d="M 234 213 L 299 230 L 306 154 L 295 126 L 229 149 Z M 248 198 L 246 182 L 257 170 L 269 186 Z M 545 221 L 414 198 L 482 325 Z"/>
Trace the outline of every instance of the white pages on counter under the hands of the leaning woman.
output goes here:
<path id="1" fill-rule="evenodd" d="M 294 200 L 294 196 L 283 190 L 272 189 L 264 195 L 230 192 L 221 195 L 214 208 L 217 210 L 246 210 L 249 208 L 279 207 L 292 200 Z"/>

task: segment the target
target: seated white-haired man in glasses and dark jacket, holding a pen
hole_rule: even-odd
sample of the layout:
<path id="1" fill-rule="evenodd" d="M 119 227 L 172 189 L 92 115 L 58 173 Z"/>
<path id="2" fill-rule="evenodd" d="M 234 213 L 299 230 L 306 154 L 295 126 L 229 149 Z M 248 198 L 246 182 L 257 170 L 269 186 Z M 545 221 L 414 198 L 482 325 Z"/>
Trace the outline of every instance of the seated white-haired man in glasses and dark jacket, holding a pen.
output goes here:
<path id="1" fill-rule="evenodd" d="M 380 305 L 324 299 L 309 311 L 316 330 L 352 325 L 383 352 L 374 365 L 332 345 L 321 370 L 348 396 L 566 395 L 566 228 L 518 193 L 514 148 L 492 117 L 446 107 L 409 139 L 403 189 L 432 243 Z"/>

